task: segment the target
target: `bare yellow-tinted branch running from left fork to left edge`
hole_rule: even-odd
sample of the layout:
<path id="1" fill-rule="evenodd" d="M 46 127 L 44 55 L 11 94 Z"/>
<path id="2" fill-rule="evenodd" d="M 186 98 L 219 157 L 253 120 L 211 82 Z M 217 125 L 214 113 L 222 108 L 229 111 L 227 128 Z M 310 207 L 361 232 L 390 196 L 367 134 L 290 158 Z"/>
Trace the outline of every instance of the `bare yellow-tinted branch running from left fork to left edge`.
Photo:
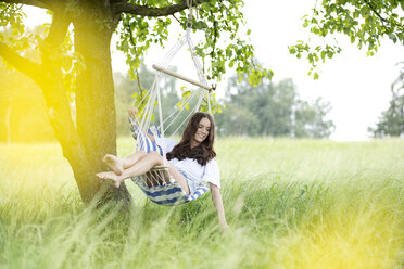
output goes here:
<path id="1" fill-rule="evenodd" d="M 37 77 L 37 74 L 41 71 L 41 66 L 39 64 L 22 57 L 3 42 L 0 42 L 0 56 L 8 61 L 16 69 L 23 72 L 25 75 L 31 78 Z"/>

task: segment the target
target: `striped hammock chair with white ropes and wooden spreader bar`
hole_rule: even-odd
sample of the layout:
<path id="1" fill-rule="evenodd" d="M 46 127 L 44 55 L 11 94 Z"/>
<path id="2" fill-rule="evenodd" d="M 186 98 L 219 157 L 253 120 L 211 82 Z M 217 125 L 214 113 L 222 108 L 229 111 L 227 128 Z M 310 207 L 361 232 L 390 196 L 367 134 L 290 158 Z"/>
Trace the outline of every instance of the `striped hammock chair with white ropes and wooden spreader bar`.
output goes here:
<path id="1" fill-rule="evenodd" d="M 190 116 L 200 110 L 201 103 L 204 98 L 206 98 L 209 113 L 212 115 L 211 112 L 211 100 L 210 100 L 210 92 L 213 90 L 212 87 L 207 86 L 207 81 L 205 76 L 203 75 L 203 71 L 199 59 L 195 55 L 194 47 L 191 40 L 191 8 L 190 7 L 190 16 L 187 23 L 186 35 L 184 35 L 177 43 L 167 52 L 167 54 L 163 57 L 161 62 L 153 65 L 152 67 L 156 71 L 156 75 L 151 88 L 147 91 L 147 94 L 143 95 L 142 101 L 140 102 L 142 105 L 142 110 L 138 113 L 138 119 L 134 116 L 129 116 L 129 125 L 131 128 L 132 137 L 136 140 L 136 150 L 140 151 L 143 150 L 147 153 L 151 151 L 156 151 L 164 157 L 164 162 L 166 162 L 166 152 L 165 152 L 165 144 L 164 139 L 163 145 L 159 146 L 154 143 L 149 137 L 148 133 L 153 136 L 154 138 L 164 138 L 164 132 L 171 126 L 177 125 L 178 118 L 180 119 L 181 113 L 188 113 L 186 118 L 178 124 L 178 127 L 173 132 L 173 137 L 178 132 L 181 126 L 188 121 Z M 168 63 L 173 60 L 176 53 L 184 47 L 184 44 L 188 44 L 188 49 L 190 51 L 191 57 L 193 60 L 193 65 L 197 69 L 198 74 L 198 81 L 186 76 L 182 76 L 178 73 L 167 69 Z M 198 88 L 192 90 L 190 94 L 186 94 L 186 98 L 182 98 L 182 103 L 175 108 L 175 111 L 165 119 L 163 119 L 162 114 L 162 102 L 161 102 L 161 92 L 160 92 L 160 85 L 161 78 L 164 75 L 173 76 L 175 78 L 185 80 Z M 194 105 L 194 107 L 188 108 L 190 105 Z M 155 105 L 159 108 L 159 121 L 160 126 L 152 126 L 151 118 L 154 111 Z M 181 115 L 185 116 L 184 114 Z M 197 188 L 194 193 L 188 195 L 182 189 L 179 187 L 178 182 L 176 182 L 171 175 L 168 174 L 168 167 L 166 164 L 162 167 L 153 167 L 149 172 L 134 177 L 131 180 L 143 191 L 143 193 L 149 197 L 150 201 L 160 204 L 160 205 L 179 205 L 185 204 L 191 201 L 194 201 L 201 197 L 204 193 L 210 190 L 210 187 L 206 183 L 202 183 Z"/>

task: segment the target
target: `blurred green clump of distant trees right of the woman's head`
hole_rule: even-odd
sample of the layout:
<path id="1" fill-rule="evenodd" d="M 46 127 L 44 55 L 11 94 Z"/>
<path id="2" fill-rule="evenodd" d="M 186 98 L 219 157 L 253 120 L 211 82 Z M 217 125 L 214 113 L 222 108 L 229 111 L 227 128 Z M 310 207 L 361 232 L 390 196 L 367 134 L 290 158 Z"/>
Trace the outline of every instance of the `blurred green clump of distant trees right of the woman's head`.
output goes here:
<path id="1" fill-rule="evenodd" d="M 219 134 L 327 138 L 333 131 L 332 121 L 325 119 L 329 103 L 300 100 L 292 79 L 263 81 L 254 90 L 235 80 L 227 89 L 225 112 L 216 115 Z"/>

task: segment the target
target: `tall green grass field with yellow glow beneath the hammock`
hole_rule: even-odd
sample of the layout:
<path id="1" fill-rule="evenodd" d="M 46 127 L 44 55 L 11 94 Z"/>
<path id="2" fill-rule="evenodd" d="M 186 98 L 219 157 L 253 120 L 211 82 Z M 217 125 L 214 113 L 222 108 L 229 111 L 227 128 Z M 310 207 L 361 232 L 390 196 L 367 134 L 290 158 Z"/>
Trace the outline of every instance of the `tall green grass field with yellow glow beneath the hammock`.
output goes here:
<path id="1" fill-rule="evenodd" d="M 134 148 L 118 141 L 121 156 Z M 404 140 L 219 139 L 210 194 L 81 204 L 58 144 L 0 144 L 0 268 L 404 268 Z"/>

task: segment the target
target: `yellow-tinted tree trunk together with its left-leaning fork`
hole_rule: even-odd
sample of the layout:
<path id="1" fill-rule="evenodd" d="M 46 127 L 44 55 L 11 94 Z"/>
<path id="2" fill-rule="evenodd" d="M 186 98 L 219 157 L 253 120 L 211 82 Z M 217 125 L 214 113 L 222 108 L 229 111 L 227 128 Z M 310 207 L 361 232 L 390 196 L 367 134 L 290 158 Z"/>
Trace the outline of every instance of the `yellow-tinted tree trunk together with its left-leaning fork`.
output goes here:
<path id="1" fill-rule="evenodd" d="M 97 2 L 96 2 L 97 3 Z M 96 4 L 97 7 L 97 4 Z M 125 184 L 118 190 L 110 185 L 101 188 L 97 172 L 108 170 L 102 163 L 105 153 L 116 154 L 116 118 L 114 104 L 114 86 L 112 78 L 110 42 L 117 20 L 109 20 L 93 11 L 81 15 L 74 22 L 75 51 L 84 57 L 85 69 L 76 79 L 76 126 L 63 87 L 61 63 L 58 53 L 63 36 L 56 36 L 58 29 L 67 29 L 61 13 L 54 14 L 53 24 L 58 27 L 49 35 L 49 48 L 42 51 L 45 76 L 33 76 L 41 87 L 49 108 L 49 118 L 60 142 L 63 155 L 68 161 L 80 196 L 85 203 L 94 197 L 101 203 L 119 201 L 126 208 L 130 207 L 131 197 Z M 60 15 L 61 17 L 58 17 Z M 108 14 L 106 14 L 108 15 Z M 105 21 L 110 24 L 106 24 Z M 70 22 L 70 21 L 65 21 Z M 104 24 L 98 23 L 103 22 Z M 114 23 L 114 25 L 112 25 Z M 53 34 L 53 35 L 51 35 Z"/>

